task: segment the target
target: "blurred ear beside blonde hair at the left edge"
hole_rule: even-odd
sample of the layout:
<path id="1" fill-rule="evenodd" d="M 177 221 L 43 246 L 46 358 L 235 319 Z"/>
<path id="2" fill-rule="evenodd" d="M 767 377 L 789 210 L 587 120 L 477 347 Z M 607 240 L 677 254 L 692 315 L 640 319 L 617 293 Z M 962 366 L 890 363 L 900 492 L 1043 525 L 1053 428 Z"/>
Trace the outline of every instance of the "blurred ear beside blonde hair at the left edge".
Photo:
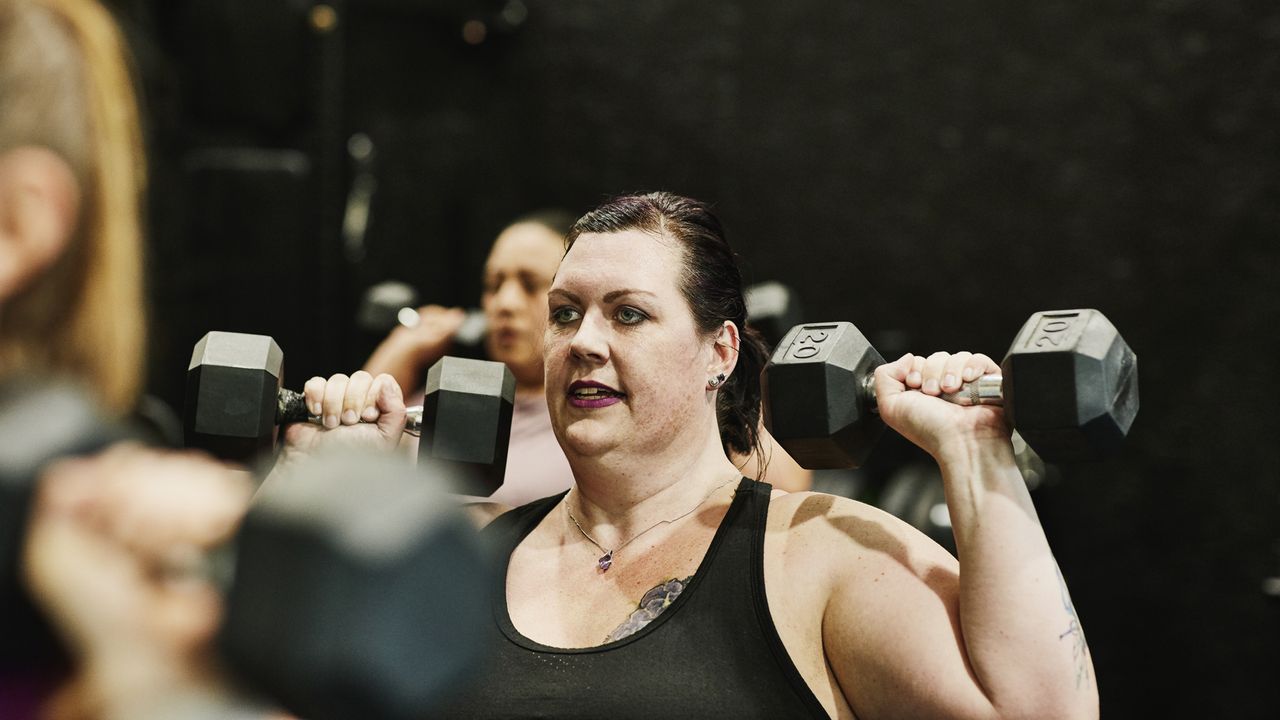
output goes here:
<path id="1" fill-rule="evenodd" d="M 33 146 L 0 155 L 0 301 L 61 256 L 78 215 L 79 183 L 60 155 Z"/>

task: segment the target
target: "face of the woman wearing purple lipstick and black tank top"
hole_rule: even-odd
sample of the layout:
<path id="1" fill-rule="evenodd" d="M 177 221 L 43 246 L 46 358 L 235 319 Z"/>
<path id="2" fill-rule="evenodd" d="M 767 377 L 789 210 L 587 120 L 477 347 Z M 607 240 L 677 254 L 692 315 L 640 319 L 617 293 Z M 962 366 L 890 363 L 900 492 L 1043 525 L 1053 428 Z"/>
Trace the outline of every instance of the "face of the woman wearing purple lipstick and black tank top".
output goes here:
<path id="1" fill-rule="evenodd" d="M 640 231 L 584 234 L 564 256 L 549 295 L 544 340 L 547 401 L 566 455 L 599 457 L 681 447 L 714 407 L 707 383 L 709 338 L 700 338 L 678 288 L 677 246 Z M 607 299 L 612 292 L 632 290 Z M 644 319 L 626 320 L 637 315 Z M 567 310 L 562 318 L 557 311 Z M 591 379 L 626 393 L 599 409 L 575 407 L 566 391 Z M 687 388 L 673 391 L 672 384 Z M 637 443 L 643 439 L 643 443 Z"/>

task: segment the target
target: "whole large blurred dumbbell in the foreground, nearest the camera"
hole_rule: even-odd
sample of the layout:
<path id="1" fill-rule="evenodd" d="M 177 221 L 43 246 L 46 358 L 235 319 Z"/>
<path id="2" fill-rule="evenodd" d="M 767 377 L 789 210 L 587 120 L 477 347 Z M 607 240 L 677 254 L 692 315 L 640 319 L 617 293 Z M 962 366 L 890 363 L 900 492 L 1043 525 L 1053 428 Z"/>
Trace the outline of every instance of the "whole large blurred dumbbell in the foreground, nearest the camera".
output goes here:
<path id="1" fill-rule="evenodd" d="M 0 670 L 67 664 L 19 559 L 44 469 L 134 437 L 87 397 L 0 387 Z M 476 598 L 490 580 L 488 552 L 440 484 L 385 454 L 310 457 L 262 483 L 227 546 L 168 571 L 220 588 L 223 665 L 291 712 L 428 716 L 479 660 L 488 611 Z"/>

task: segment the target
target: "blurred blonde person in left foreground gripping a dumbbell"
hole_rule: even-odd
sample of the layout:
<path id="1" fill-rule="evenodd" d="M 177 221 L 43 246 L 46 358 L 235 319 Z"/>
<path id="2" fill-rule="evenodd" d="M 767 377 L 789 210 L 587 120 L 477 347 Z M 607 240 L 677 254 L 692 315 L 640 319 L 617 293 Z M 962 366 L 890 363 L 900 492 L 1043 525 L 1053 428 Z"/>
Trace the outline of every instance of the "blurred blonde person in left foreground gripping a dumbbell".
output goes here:
<path id="1" fill-rule="evenodd" d="M 92 0 L 0 0 L 0 382 L 52 375 L 127 415 L 145 357 L 143 155 L 110 14 Z M 0 716 L 141 717 L 155 693 L 211 689 L 209 593 L 151 570 L 155 552 L 233 525 L 244 479 L 133 448 L 64 465 L 38 495 L 23 577 L 0 578 L 14 596 L 0 602 Z M 37 650 L 54 643 L 26 621 L 32 600 L 70 667 Z"/>

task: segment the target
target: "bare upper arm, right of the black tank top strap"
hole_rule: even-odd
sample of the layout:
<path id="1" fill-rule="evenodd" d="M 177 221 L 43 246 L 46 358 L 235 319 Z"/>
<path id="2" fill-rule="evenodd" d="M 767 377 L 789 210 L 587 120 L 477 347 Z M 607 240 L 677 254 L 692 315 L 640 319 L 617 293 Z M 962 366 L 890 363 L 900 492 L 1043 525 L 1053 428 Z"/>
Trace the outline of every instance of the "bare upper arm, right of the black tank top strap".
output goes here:
<path id="1" fill-rule="evenodd" d="M 993 717 L 960 630 L 955 557 L 906 523 L 836 505 L 823 652 L 861 717 Z"/>

